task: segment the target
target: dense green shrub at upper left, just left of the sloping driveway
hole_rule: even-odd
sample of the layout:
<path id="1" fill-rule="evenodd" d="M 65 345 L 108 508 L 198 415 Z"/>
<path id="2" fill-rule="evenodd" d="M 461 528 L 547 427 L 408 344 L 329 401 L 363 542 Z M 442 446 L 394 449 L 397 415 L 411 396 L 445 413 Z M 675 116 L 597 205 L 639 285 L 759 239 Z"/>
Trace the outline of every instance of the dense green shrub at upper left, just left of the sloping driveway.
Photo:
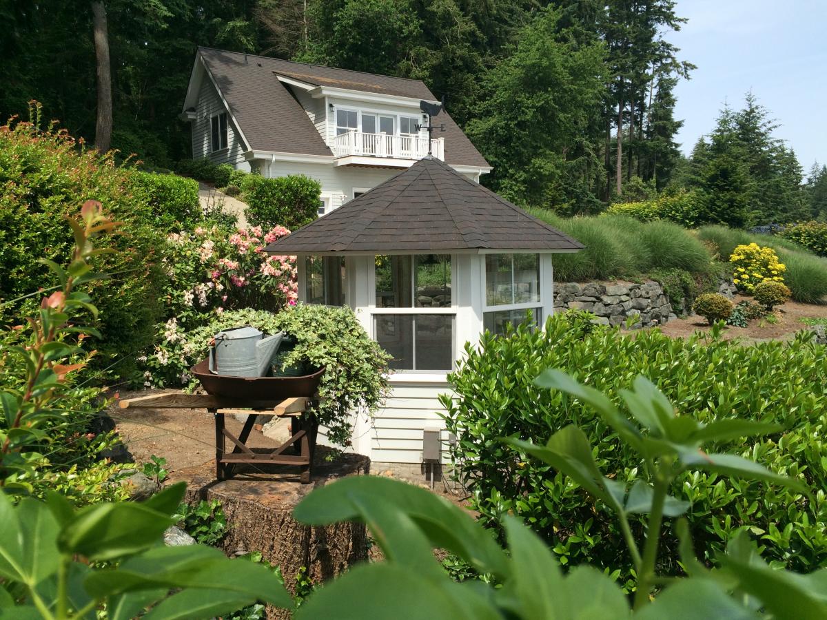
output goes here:
<path id="1" fill-rule="evenodd" d="M 193 226 L 201 217 L 198 183 L 177 174 L 153 174 L 135 171 L 131 174 L 132 191 L 151 207 L 155 228 L 179 231 Z"/>

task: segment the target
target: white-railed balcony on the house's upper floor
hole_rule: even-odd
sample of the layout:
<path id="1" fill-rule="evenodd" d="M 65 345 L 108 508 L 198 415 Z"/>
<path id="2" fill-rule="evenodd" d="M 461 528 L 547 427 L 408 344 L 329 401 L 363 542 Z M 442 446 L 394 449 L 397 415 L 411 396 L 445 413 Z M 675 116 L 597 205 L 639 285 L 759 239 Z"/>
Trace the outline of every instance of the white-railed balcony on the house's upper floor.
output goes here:
<path id="1" fill-rule="evenodd" d="M 407 168 L 428 155 L 428 138 L 362 133 L 351 130 L 333 139 L 336 165 L 382 165 Z M 431 155 L 445 160 L 445 138 L 431 140 Z"/>

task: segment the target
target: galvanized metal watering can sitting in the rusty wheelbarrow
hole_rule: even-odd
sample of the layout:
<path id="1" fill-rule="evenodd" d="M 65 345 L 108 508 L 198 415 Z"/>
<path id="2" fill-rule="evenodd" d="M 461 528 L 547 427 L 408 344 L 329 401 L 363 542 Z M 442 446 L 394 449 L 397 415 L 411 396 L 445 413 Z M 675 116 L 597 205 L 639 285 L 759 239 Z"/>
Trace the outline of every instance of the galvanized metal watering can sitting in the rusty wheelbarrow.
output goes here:
<path id="1" fill-rule="evenodd" d="M 283 338 L 284 331 L 265 338 L 249 325 L 219 331 L 210 344 L 209 370 L 231 377 L 263 377 Z"/>

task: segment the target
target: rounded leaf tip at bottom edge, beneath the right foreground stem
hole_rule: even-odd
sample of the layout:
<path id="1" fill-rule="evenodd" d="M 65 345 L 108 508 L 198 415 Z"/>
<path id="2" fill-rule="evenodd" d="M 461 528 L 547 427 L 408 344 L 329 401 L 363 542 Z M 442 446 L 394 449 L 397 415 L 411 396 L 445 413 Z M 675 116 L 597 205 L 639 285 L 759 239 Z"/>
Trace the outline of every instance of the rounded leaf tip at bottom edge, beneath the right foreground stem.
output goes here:
<path id="1" fill-rule="evenodd" d="M 743 607 L 711 579 L 679 579 L 639 610 L 634 620 L 755 620 L 758 614 Z M 802 618 L 803 620 L 803 618 Z"/>

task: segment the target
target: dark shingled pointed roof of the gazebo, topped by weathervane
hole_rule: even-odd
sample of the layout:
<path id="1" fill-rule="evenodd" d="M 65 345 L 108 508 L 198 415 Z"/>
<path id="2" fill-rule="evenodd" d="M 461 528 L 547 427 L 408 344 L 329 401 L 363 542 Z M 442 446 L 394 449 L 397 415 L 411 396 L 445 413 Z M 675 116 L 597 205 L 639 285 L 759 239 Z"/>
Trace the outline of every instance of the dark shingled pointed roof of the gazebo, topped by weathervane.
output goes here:
<path id="1" fill-rule="evenodd" d="M 579 241 L 426 158 L 267 246 L 272 254 L 576 251 Z"/>

